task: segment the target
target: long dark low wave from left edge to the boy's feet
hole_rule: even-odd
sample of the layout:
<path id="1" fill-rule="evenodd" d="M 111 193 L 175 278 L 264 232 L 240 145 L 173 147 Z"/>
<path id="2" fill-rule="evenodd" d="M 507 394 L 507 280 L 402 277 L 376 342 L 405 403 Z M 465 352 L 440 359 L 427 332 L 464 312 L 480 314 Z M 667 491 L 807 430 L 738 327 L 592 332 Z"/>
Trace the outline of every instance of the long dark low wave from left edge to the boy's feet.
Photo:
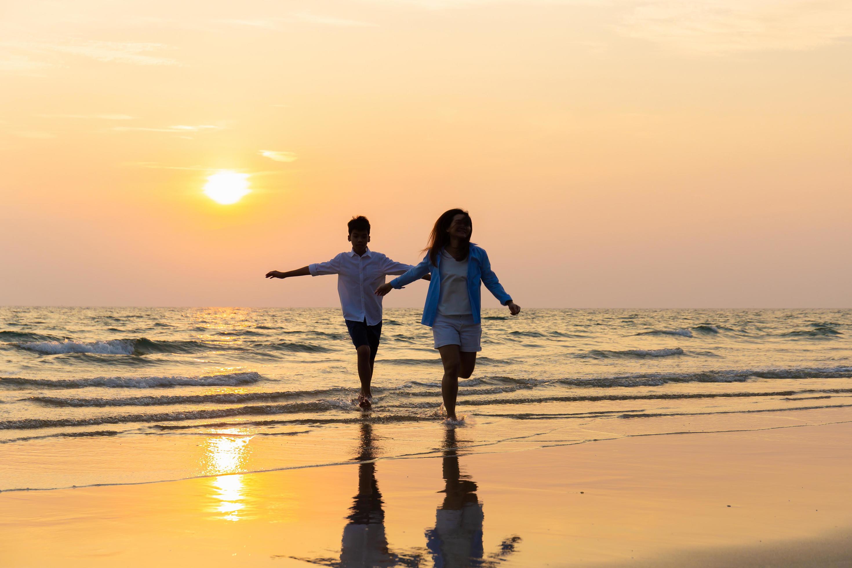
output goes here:
<path id="1" fill-rule="evenodd" d="M 32 430 L 49 427 L 98 426 L 101 424 L 126 424 L 145 422 L 178 422 L 205 420 L 231 416 L 269 416 L 302 412 L 325 412 L 328 410 L 358 410 L 351 400 L 316 400 L 290 404 L 264 404 L 209 410 L 186 410 L 158 414 L 124 414 L 118 416 L 92 416 L 90 418 L 22 418 L 0 421 L 0 430 Z"/>

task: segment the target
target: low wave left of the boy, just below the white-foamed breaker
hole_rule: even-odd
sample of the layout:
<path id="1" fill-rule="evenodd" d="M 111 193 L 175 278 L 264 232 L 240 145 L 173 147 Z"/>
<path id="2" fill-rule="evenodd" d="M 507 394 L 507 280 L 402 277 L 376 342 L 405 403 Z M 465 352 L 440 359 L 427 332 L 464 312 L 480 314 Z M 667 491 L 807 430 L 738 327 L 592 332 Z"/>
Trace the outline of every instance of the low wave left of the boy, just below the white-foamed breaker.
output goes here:
<path id="1" fill-rule="evenodd" d="M 0 377 L 0 387 L 50 388 L 158 388 L 158 387 L 235 387 L 262 380 L 256 372 L 209 376 L 97 376 L 90 379 L 25 379 Z"/>

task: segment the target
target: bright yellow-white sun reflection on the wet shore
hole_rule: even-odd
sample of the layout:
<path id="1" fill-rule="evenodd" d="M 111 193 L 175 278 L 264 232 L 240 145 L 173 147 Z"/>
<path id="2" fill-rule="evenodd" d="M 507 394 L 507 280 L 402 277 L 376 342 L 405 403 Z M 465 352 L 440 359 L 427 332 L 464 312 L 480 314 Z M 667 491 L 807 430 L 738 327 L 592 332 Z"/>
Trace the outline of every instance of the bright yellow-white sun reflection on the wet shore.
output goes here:
<path id="1" fill-rule="evenodd" d="M 211 480 L 212 496 L 218 501 L 214 510 L 219 519 L 245 519 L 245 476 L 239 472 L 249 454 L 245 428 L 227 428 L 214 431 L 215 436 L 204 442 L 204 473 L 218 475 Z"/>

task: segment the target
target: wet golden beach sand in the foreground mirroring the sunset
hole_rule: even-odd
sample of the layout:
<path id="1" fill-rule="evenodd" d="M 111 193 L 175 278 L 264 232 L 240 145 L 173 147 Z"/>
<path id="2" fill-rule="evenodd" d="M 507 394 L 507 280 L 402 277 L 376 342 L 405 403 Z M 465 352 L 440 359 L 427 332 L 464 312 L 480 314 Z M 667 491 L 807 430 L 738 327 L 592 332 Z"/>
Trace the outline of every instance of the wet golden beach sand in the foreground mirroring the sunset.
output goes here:
<path id="1" fill-rule="evenodd" d="M 362 434 L 369 461 L 383 427 Z M 0 565 L 847 566 L 850 440 L 843 422 L 9 491 Z"/>

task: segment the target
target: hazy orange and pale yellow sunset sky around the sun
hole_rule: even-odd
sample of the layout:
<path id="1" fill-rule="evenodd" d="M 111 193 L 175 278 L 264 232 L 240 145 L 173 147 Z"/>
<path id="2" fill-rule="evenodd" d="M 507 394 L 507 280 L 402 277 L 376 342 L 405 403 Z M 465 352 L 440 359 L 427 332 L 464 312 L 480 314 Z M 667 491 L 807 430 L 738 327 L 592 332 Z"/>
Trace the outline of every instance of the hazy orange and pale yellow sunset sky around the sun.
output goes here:
<path id="1" fill-rule="evenodd" d="M 848 0 L 2 0 L 0 304 L 333 307 L 263 274 L 462 207 L 521 307 L 852 307 L 849 100 Z"/>

